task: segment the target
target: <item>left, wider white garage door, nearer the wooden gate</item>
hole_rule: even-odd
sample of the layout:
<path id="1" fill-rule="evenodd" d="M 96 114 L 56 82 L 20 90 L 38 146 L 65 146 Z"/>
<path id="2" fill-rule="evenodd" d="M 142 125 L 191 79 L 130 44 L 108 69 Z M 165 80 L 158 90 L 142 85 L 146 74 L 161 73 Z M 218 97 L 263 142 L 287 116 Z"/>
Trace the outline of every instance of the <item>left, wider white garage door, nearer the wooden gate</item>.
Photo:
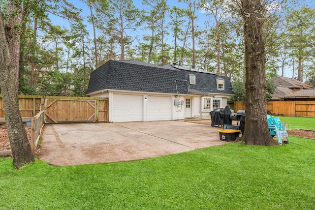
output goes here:
<path id="1" fill-rule="evenodd" d="M 142 95 L 114 94 L 113 122 L 135 122 L 143 120 Z"/>

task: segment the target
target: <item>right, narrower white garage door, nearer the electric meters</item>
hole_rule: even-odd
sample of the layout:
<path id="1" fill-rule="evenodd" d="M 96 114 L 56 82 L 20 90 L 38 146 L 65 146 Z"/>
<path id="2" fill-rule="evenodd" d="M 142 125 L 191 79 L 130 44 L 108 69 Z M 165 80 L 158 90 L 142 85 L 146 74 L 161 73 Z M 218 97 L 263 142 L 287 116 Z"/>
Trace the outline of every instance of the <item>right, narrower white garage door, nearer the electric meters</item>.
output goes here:
<path id="1" fill-rule="evenodd" d="M 148 96 L 148 121 L 171 120 L 172 98 L 165 96 Z"/>

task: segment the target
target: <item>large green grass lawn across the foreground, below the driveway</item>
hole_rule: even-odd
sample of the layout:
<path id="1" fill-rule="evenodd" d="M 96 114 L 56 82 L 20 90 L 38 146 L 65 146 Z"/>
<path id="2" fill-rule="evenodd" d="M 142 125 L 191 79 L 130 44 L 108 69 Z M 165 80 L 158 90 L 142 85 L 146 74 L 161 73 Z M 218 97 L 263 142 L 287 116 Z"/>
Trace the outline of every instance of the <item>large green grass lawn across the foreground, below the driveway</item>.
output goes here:
<path id="1" fill-rule="evenodd" d="M 36 161 L 14 170 L 0 157 L 0 210 L 311 210 L 314 192 L 315 140 L 298 137 L 81 166 Z"/>

